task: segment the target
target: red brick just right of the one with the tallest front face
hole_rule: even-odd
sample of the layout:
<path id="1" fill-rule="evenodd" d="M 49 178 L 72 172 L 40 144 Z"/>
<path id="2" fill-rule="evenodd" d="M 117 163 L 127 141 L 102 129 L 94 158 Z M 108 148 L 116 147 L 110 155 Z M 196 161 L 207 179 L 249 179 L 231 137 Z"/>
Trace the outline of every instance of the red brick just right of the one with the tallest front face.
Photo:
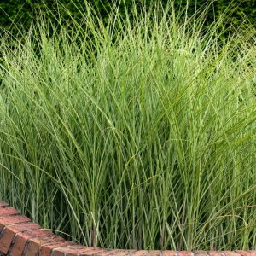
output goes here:
<path id="1" fill-rule="evenodd" d="M 24 248 L 26 246 L 26 242 L 28 239 L 33 237 L 49 237 L 53 236 L 52 232 L 47 230 L 31 230 L 23 233 L 19 233 L 15 236 L 14 247 L 9 253 L 10 256 L 21 256 Z"/>

